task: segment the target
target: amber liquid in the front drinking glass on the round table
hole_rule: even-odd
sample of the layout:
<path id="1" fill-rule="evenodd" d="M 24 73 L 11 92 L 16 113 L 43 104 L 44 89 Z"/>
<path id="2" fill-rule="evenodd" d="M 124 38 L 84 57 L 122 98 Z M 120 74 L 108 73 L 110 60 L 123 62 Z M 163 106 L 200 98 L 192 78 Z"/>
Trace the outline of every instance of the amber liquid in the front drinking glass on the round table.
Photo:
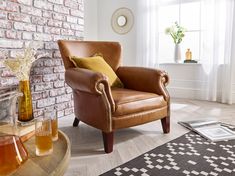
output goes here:
<path id="1" fill-rule="evenodd" d="M 36 133 L 35 143 L 36 143 L 36 155 L 43 156 L 52 153 L 53 144 L 51 140 L 51 133 L 43 131 Z"/>

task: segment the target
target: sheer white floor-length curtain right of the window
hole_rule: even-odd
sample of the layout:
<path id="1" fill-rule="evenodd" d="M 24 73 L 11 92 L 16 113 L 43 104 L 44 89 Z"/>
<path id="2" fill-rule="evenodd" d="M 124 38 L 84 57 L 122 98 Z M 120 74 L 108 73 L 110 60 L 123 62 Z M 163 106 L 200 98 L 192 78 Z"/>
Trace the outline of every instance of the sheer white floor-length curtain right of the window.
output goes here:
<path id="1" fill-rule="evenodd" d="M 201 98 L 232 103 L 235 60 L 234 0 L 201 1 L 201 62 L 205 90 Z"/>

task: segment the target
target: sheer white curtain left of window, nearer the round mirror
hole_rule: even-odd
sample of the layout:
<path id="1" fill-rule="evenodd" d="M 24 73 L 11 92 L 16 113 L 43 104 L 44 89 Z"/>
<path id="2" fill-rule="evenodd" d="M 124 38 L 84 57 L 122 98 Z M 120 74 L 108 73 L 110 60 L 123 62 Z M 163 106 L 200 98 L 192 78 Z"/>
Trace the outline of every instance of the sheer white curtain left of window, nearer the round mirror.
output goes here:
<path id="1" fill-rule="evenodd" d="M 137 65 L 153 68 L 158 63 L 158 0 L 137 2 Z"/>

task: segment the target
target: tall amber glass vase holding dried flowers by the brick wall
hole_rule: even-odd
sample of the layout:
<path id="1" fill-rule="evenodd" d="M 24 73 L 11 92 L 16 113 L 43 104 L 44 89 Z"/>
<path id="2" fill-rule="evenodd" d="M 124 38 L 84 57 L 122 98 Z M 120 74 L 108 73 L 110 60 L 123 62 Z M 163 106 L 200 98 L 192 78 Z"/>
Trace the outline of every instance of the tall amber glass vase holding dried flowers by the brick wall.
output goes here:
<path id="1" fill-rule="evenodd" d="M 19 82 L 19 91 L 23 93 L 23 96 L 19 97 L 18 120 L 27 122 L 33 119 L 33 104 L 29 80 Z"/>

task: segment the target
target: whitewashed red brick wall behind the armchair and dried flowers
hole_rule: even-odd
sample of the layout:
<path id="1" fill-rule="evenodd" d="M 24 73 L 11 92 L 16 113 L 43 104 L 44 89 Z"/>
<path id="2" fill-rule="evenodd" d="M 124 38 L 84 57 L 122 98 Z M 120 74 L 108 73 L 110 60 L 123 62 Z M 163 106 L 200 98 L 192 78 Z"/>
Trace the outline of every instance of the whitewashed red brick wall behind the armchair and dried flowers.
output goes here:
<path id="1" fill-rule="evenodd" d="M 46 107 L 58 117 L 73 113 L 72 90 L 64 82 L 64 66 L 57 40 L 82 40 L 83 0 L 1 0 L 0 1 L 0 87 L 17 85 L 17 78 L 2 60 L 22 54 L 31 41 L 42 41 L 40 53 L 31 69 L 30 82 L 34 116 Z"/>

